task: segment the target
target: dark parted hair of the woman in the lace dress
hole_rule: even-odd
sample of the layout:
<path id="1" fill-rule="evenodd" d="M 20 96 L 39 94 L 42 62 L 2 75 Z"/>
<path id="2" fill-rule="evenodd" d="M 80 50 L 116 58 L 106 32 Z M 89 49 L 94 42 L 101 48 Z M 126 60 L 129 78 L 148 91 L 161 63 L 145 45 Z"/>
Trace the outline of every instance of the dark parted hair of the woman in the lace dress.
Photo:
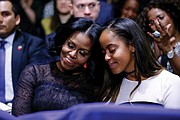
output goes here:
<path id="1" fill-rule="evenodd" d="M 49 51 L 51 54 L 59 56 L 62 45 L 69 37 L 71 37 L 71 35 L 73 35 L 76 32 L 86 33 L 86 35 L 93 43 L 91 56 L 89 60 L 86 62 L 86 65 L 88 72 L 91 74 L 91 76 L 94 77 L 96 74 L 96 61 L 98 57 L 98 51 L 100 48 L 97 44 L 100 31 L 101 27 L 98 24 L 95 24 L 91 19 L 74 18 L 70 22 L 62 24 L 56 30 L 56 35 L 51 40 L 51 42 L 53 41 L 53 43 L 51 43 Z"/>

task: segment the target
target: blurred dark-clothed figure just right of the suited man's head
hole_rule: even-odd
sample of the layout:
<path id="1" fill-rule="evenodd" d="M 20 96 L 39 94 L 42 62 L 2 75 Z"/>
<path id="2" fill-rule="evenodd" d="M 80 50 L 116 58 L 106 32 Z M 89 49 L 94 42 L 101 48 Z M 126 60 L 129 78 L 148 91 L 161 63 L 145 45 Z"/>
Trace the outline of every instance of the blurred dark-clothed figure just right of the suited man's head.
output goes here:
<path id="1" fill-rule="evenodd" d="M 41 26 L 44 4 L 41 0 L 16 0 L 20 9 L 21 23 L 19 28 L 32 35 L 44 38 Z"/>

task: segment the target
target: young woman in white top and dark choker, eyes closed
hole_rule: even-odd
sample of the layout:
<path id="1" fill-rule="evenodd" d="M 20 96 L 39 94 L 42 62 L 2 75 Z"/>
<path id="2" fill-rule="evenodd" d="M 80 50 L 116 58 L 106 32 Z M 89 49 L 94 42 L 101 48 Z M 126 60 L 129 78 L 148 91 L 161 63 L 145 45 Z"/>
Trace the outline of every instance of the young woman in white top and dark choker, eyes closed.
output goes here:
<path id="1" fill-rule="evenodd" d="M 157 61 L 136 22 L 128 18 L 110 21 L 104 26 L 99 42 L 114 74 L 104 82 L 102 101 L 153 103 L 180 109 L 179 76 Z"/>

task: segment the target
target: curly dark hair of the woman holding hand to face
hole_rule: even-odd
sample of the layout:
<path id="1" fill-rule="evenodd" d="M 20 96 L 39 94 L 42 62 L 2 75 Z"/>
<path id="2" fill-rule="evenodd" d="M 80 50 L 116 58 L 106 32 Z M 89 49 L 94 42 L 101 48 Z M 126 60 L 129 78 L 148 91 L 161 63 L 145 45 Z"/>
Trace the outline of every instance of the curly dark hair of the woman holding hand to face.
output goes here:
<path id="1" fill-rule="evenodd" d="M 149 21 L 147 13 L 152 8 L 158 8 L 165 11 L 169 15 L 169 17 L 172 19 L 174 23 L 175 29 L 177 29 L 180 32 L 180 11 L 176 4 L 177 3 L 173 1 L 151 0 L 149 4 L 140 13 L 136 22 L 140 25 L 140 27 L 145 33 L 153 32 L 148 26 Z"/>

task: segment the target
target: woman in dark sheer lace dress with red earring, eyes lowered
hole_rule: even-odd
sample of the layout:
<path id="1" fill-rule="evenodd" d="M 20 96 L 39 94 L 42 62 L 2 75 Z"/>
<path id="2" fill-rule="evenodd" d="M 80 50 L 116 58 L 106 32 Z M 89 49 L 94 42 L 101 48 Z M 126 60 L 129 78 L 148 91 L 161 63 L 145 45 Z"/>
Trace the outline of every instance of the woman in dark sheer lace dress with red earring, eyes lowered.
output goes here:
<path id="1" fill-rule="evenodd" d="M 13 101 L 13 115 L 62 110 L 96 101 L 96 42 L 100 26 L 75 18 L 57 30 L 51 51 L 60 60 L 29 65 L 22 72 Z"/>

